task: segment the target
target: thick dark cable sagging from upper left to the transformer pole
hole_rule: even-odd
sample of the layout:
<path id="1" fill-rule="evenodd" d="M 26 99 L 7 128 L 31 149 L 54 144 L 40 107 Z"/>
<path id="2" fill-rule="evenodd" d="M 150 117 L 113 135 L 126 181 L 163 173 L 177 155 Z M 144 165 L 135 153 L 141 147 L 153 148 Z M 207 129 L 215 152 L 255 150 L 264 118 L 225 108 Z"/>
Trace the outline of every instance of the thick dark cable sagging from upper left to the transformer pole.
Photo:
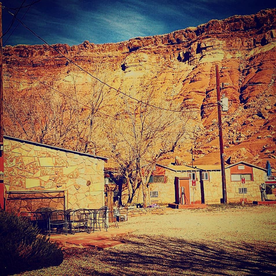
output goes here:
<path id="1" fill-rule="evenodd" d="M 100 80 L 99 78 L 93 76 L 91 73 L 89 73 L 88 71 L 84 70 L 82 67 L 80 67 L 78 64 L 76 64 L 75 62 L 73 62 L 72 60 L 70 60 L 69 58 L 67 58 L 67 56 L 63 55 L 60 51 L 58 51 L 55 47 L 53 47 L 52 45 L 50 45 L 49 43 L 47 43 L 47 41 L 45 41 L 43 38 L 41 38 L 38 34 L 36 34 L 33 30 L 31 30 L 29 27 L 27 27 L 20 19 L 16 18 L 16 15 L 15 14 L 12 14 L 10 11 L 8 11 L 8 13 L 10 13 L 12 16 L 14 16 L 15 19 L 17 19 L 21 25 L 23 25 L 27 30 L 29 30 L 30 32 L 32 32 L 32 34 L 34 34 L 37 38 L 39 38 L 41 41 L 43 41 L 44 43 L 46 43 L 49 47 L 51 47 L 52 49 L 54 49 L 58 54 L 60 54 L 62 57 L 66 58 L 69 62 L 71 62 L 73 65 L 77 66 L 79 69 L 81 69 L 82 71 L 84 71 L 85 73 L 87 73 L 89 76 L 91 76 L 92 78 L 98 80 L 99 82 L 101 82 L 102 84 L 106 85 L 107 87 L 119 92 L 119 93 L 122 93 L 123 95 L 137 101 L 137 102 L 141 102 L 142 104 L 145 104 L 147 106 L 151 106 L 153 108 L 157 108 L 157 109 L 161 109 L 161 110 L 166 110 L 166 111 L 172 111 L 172 112 L 178 112 L 178 113 L 194 113 L 194 112 L 197 112 L 197 111 L 180 111 L 180 110 L 174 110 L 174 109 L 169 109 L 169 108 L 162 108 L 162 107 L 159 107 L 159 106 L 154 106 L 152 104 L 149 104 L 149 103 L 146 103 L 146 102 L 143 102 L 141 100 L 138 100 L 114 87 L 112 87 L 111 85 L 103 82 L 102 80 Z"/>

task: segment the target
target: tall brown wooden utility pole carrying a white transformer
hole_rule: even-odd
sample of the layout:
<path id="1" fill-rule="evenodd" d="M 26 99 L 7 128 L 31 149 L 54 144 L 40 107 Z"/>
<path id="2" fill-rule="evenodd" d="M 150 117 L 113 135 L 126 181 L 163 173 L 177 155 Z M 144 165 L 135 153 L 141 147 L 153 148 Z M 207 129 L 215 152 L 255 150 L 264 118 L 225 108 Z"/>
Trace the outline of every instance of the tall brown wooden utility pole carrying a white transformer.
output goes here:
<path id="1" fill-rule="evenodd" d="M 221 123 L 221 99 L 220 99 L 220 76 L 218 72 L 218 65 L 216 64 L 216 88 L 217 88 L 217 102 L 218 102 L 218 135 L 220 141 L 220 166 L 221 166 L 221 180 L 222 180 L 222 203 L 227 203 L 225 168 L 224 168 L 224 146 Z"/>

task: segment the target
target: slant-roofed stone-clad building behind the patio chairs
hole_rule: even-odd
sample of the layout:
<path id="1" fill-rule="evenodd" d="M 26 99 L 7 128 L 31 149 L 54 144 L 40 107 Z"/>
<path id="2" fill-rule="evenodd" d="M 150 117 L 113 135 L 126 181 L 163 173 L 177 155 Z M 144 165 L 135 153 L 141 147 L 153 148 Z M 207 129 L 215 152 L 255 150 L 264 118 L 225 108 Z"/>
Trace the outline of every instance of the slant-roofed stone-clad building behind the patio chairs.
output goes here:
<path id="1" fill-rule="evenodd" d="M 102 207 L 106 160 L 4 136 L 6 209 L 35 211 L 48 206 L 57 209 Z M 13 199 L 14 195 L 21 199 Z M 60 195 L 64 198 L 61 199 Z"/>

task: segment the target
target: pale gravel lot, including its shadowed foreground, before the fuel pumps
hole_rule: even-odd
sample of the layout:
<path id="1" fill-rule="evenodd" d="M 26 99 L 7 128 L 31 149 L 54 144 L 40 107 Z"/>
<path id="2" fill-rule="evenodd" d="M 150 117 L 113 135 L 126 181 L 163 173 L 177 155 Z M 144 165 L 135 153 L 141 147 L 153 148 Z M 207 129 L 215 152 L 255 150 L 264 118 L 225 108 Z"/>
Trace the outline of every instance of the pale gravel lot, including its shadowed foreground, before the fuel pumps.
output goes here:
<path id="1" fill-rule="evenodd" d="M 21 275 L 276 275 L 276 206 L 213 205 L 130 218 L 126 244 L 67 249 L 58 267 Z"/>

